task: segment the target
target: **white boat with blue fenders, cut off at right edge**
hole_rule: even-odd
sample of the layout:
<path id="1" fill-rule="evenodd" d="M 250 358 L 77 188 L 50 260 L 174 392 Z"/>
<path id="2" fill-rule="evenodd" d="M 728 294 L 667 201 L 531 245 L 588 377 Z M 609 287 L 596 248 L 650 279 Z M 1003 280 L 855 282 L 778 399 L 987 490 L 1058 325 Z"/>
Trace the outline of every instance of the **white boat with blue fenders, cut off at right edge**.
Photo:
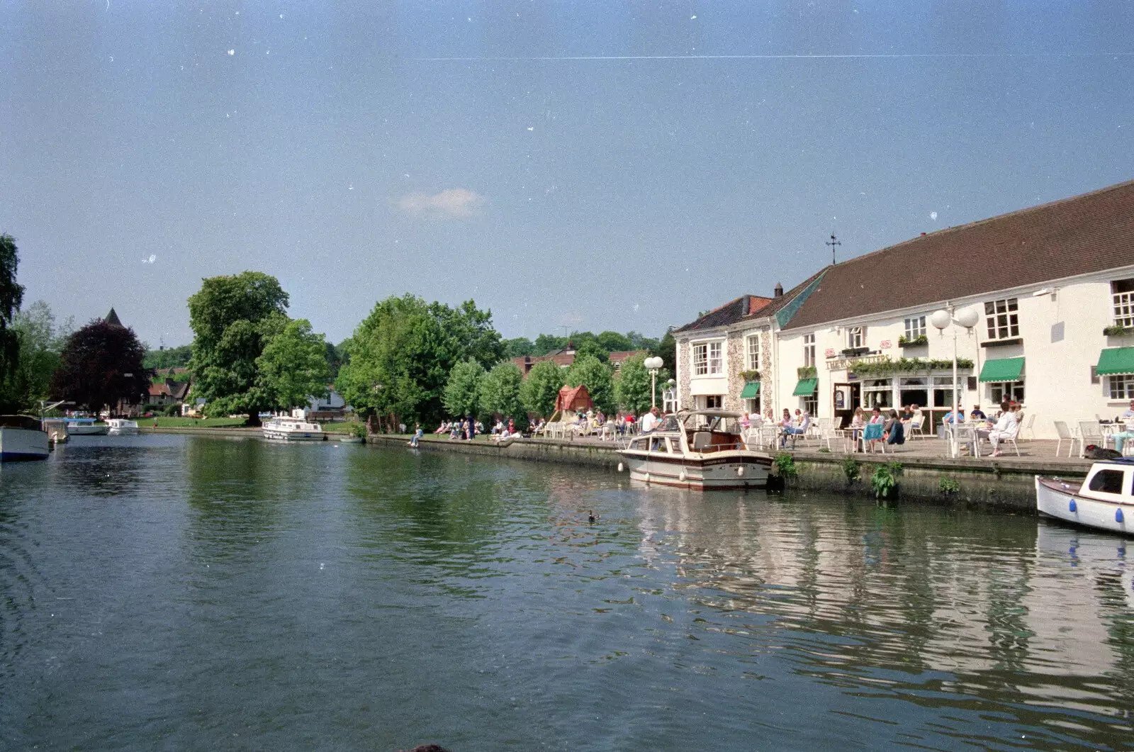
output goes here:
<path id="1" fill-rule="evenodd" d="M 1066 522 L 1134 535 L 1134 457 L 1091 465 L 1082 484 L 1035 476 L 1035 508 Z"/>

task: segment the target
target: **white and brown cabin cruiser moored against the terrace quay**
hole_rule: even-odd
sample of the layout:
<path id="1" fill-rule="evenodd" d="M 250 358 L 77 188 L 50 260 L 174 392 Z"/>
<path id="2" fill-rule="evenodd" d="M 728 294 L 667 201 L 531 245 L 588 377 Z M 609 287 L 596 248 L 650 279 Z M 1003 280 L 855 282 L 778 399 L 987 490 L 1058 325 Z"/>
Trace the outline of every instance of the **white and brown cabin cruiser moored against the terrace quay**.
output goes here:
<path id="1" fill-rule="evenodd" d="M 720 409 L 682 411 L 631 439 L 619 454 L 636 481 L 696 491 L 764 488 L 772 456 L 748 448 L 739 419 L 741 413 Z"/>

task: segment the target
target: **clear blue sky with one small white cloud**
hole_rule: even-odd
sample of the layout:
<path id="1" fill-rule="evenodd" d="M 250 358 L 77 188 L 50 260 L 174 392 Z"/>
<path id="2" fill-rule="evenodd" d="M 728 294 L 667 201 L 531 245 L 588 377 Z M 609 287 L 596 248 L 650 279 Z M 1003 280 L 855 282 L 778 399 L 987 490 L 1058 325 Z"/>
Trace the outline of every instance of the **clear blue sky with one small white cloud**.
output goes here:
<path id="1" fill-rule="evenodd" d="M 1134 3 L 2 2 L 0 231 L 78 322 L 277 276 L 660 336 L 840 257 L 1134 178 Z M 895 270 L 895 284 L 916 273 Z"/>

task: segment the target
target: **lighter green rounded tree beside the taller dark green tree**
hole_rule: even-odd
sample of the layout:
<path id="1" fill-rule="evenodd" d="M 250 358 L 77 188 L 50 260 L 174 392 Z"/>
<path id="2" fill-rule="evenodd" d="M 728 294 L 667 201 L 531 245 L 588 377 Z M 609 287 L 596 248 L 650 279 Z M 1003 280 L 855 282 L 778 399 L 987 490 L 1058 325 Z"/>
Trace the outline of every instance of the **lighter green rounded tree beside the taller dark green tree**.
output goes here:
<path id="1" fill-rule="evenodd" d="M 291 409 L 308 397 L 325 397 L 327 341 L 306 319 L 289 321 L 256 358 L 256 387 L 273 409 Z"/>

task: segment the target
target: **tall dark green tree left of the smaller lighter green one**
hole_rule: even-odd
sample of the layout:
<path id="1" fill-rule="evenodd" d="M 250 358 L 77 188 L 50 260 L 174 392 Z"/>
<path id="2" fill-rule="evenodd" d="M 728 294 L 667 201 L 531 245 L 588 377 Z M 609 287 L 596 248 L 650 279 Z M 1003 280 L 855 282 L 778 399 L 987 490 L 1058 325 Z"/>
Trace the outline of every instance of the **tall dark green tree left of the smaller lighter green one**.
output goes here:
<path id="1" fill-rule="evenodd" d="M 209 415 L 260 412 L 272 400 L 256 380 L 256 358 L 287 326 L 288 295 L 270 274 L 245 271 L 202 280 L 189 297 L 193 328 L 194 397 L 203 397 Z"/>

